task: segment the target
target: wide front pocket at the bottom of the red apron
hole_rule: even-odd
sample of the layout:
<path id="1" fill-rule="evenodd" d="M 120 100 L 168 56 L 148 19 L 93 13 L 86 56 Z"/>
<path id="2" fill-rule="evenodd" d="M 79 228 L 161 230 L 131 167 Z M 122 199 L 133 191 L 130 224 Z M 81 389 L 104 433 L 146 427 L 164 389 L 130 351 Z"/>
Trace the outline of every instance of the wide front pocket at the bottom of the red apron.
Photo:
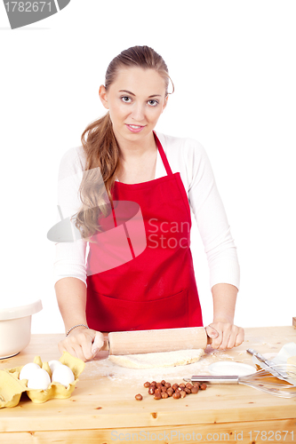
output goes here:
<path id="1" fill-rule="evenodd" d="M 92 290 L 86 317 L 91 329 L 108 332 L 188 327 L 188 289 L 151 301 L 117 299 Z"/>

